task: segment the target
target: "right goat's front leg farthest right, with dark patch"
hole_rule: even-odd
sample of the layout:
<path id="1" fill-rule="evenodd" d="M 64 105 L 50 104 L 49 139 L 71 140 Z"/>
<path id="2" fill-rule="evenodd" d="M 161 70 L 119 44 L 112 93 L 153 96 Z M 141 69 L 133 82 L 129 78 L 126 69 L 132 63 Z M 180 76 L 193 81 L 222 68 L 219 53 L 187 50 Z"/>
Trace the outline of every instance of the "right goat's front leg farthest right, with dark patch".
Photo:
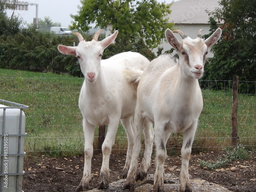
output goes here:
<path id="1" fill-rule="evenodd" d="M 183 144 L 181 148 L 181 172 L 180 172 L 180 192 L 192 192 L 191 184 L 188 178 L 188 163 L 191 154 L 191 147 L 194 141 L 195 133 L 197 129 L 197 121 L 193 123 L 183 133 Z"/>

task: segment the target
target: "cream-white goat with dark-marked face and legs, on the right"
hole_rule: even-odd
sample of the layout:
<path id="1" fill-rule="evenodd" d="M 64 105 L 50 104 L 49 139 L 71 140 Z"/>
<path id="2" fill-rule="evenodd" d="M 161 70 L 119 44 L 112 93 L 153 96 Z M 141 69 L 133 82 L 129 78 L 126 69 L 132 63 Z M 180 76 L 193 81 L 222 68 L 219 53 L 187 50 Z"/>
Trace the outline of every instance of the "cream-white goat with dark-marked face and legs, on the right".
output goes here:
<path id="1" fill-rule="evenodd" d="M 173 32 L 182 36 L 182 42 Z M 180 191 L 192 191 L 188 179 L 188 161 L 198 118 L 203 109 L 198 79 L 204 72 L 208 48 L 218 41 L 221 29 L 217 29 L 206 40 L 201 38 L 202 30 L 199 31 L 196 39 L 189 38 L 179 30 L 173 32 L 167 29 L 165 37 L 179 54 L 179 62 L 169 55 L 159 56 L 150 63 L 140 78 L 134 118 L 135 144 L 131 166 L 124 185 L 125 189 L 134 189 L 137 159 L 140 152 L 140 135 L 143 122 L 149 119 L 155 122 L 156 172 L 153 191 L 164 191 L 165 147 L 167 139 L 173 132 L 183 133 Z M 147 168 L 144 167 L 144 172 Z M 142 169 L 139 170 L 141 171 Z"/>

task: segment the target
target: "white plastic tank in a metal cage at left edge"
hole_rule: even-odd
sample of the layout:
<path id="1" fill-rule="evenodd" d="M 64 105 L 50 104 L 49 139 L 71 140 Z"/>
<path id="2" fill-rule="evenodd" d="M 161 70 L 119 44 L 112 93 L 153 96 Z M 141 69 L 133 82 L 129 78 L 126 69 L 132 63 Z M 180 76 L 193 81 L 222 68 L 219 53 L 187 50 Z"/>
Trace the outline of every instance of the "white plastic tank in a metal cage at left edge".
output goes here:
<path id="1" fill-rule="evenodd" d="M 1 104 L 5 103 L 7 105 Z M 21 192 L 27 105 L 0 99 L 0 192 Z"/>

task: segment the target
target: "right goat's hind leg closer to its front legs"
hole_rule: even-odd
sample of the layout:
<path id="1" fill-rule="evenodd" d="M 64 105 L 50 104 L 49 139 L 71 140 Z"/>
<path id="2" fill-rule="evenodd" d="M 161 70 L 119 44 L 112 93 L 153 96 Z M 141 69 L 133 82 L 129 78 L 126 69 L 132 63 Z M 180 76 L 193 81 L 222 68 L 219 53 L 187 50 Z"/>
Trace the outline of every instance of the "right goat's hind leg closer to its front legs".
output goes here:
<path id="1" fill-rule="evenodd" d="M 136 181 L 143 180 L 147 176 L 147 170 L 151 166 L 151 155 L 154 144 L 154 130 L 153 124 L 147 118 L 144 122 L 144 135 L 145 135 L 145 152 L 143 160 L 141 162 L 138 174 L 136 175 Z"/>

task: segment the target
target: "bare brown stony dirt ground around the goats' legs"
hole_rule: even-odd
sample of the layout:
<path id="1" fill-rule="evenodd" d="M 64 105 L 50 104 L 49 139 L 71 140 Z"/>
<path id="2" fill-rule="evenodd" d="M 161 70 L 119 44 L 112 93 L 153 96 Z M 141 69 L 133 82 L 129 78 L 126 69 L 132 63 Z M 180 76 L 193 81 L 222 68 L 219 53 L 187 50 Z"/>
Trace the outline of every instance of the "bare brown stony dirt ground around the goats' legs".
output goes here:
<path id="1" fill-rule="evenodd" d="M 199 159 L 217 160 L 221 152 L 200 153 L 191 155 L 189 174 L 193 178 L 200 178 L 216 183 L 235 192 L 256 192 L 256 152 L 252 159 L 235 161 L 217 170 L 207 170 L 200 166 Z M 93 156 L 92 159 L 92 188 L 97 187 L 102 155 Z M 25 192 L 37 191 L 75 191 L 82 178 L 83 157 L 52 158 L 45 155 L 28 156 L 24 160 L 25 175 L 23 176 L 23 190 Z M 121 179 L 122 168 L 125 163 L 125 154 L 111 155 L 110 182 Z M 180 174 L 181 157 L 168 156 L 165 160 L 165 173 Z M 231 172 L 231 167 L 237 170 Z M 148 173 L 155 172 L 155 160 Z"/>

